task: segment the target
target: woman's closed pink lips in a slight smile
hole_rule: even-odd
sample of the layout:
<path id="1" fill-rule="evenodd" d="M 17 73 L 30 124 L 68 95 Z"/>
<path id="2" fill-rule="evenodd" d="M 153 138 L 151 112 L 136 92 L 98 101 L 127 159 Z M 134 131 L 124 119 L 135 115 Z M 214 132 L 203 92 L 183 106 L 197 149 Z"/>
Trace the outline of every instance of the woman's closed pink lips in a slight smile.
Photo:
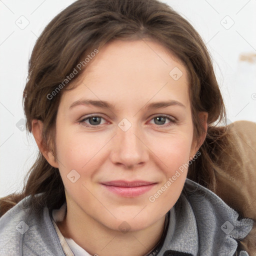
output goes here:
<path id="1" fill-rule="evenodd" d="M 112 180 L 101 183 L 101 185 L 108 191 L 123 197 L 136 197 L 144 194 L 145 192 L 149 191 L 153 186 L 155 186 L 155 184 L 155 182 L 149 182 L 144 180 Z"/>

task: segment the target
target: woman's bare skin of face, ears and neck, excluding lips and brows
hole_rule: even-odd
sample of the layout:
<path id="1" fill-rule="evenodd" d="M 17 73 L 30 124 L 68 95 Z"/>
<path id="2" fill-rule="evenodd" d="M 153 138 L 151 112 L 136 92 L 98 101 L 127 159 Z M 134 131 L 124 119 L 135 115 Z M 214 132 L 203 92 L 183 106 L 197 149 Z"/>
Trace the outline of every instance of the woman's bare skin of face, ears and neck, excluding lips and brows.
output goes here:
<path id="1" fill-rule="evenodd" d="M 182 71 L 177 80 L 169 75 L 174 67 Z M 114 40 L 99 50 L 82 76 L 76 88 L 61 96 L 56 118 L 57 162 L 42 147 L 43 124 L 32 122 L 40 151 L 59 168 L 65 186 L 67 214 L 57 225 L 64 236 L 92 255 L 120 255 L 120 251 L 124 256 L 144 255 L 159 240 L 165 214 L 178 199 L 187 170 L 154 202 L 149 196 L 199 148 L 192 141 L 187 71 L 157 42 Z M 85 104 L 69 108 L 82 99 L 104 100 L 114 108 Z M 146 108 L 149 103 L 168 100 L 184 106 Z M 102 118 L 84 119 L 89 114 Z M 200 112 L 199 118 L 206 130 L 207 113 Z M 202 144 L 205 134 L 200 139 Z M 75 182 L 68 178 L 72 169 L 80 175 Z M 133 197 L 114 194 L 101 184 L 118 179 L 156 184 Z"/>

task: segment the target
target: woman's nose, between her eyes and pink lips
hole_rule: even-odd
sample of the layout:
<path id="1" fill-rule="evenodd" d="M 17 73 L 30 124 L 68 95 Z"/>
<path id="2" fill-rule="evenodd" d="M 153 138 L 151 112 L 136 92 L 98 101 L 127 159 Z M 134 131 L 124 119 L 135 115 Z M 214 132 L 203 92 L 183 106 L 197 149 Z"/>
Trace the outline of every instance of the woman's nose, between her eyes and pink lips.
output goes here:
<path id="1" fill-rule="evenodd" d="M 134 169 L 149 159 L 148 154 L 149 149 L 136 125 L 131 125 L 126 131 L 117 127 L 110 153 L 111 161 L 114 164 Z"/>

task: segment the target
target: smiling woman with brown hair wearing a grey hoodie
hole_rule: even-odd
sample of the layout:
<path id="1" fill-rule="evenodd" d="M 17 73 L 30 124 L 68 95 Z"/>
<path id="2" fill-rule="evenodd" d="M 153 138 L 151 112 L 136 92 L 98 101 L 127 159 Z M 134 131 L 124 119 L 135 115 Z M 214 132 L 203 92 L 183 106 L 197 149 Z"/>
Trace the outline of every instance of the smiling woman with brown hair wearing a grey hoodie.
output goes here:
<path id="1" fill-rule="evenodd" d="M 225 108 L 206 47 L 179 14 L 78 0 L 45 27 L 28 72 L 40 152 L 23 192 L 1 200 L 5 254 L 248 255 L 253 220 L 209 190 L 214 141 L 232 139 L 214 125 Z"/>

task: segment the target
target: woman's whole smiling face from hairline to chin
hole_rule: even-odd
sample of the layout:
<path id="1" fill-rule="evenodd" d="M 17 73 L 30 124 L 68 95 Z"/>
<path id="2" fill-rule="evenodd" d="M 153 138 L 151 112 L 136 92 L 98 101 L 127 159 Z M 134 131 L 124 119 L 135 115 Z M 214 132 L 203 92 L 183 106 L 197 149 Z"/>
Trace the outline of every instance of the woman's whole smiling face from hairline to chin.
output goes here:
<path id="1" fill-rule="evenodd" d="M 82 82 L 63 93 L 56 118 L 69 210 L 139 230 L 174 205 L 198 149 L 187 71 L 148 40 L 112 41 L 90 61 Z"/>

